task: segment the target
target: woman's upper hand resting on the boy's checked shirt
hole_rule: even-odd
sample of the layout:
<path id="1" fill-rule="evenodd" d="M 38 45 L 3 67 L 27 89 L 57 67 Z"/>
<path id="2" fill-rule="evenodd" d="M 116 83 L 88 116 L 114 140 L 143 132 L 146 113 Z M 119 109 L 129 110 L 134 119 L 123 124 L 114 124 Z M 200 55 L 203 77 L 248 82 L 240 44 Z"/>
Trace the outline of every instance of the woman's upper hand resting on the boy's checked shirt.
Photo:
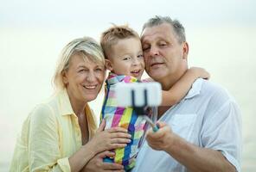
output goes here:
<path id="1" fill-rule="evenodd" d="M 110 129 L 104 128 L 106 121 L 102 120 L 98 131 L 91 141 L 87 143 L 90 145 L 91 151 L 98 154 L 102 151 L 110 151 L 117 148 L 124 148 L 131 142 L 131 135 L 127 133 L 127 130 L 122 127 L 114 127 Z"/>

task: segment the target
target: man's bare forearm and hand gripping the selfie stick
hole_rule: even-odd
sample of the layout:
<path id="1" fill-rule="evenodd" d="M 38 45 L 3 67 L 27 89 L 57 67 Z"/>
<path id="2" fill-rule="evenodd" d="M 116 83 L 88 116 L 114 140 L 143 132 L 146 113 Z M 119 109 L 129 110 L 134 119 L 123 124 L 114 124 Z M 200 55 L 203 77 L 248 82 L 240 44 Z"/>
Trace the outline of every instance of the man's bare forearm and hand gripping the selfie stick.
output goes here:
<path id="1" fill-rule="evenodd" d="M 152 149 L 166 151 L 189 171 L 236 171 L 220 151 L 190 144 L 172 132 L 170 126 L 160 122 L 159 125 L 157 132 L 150 130 L 146 136 Z"/>

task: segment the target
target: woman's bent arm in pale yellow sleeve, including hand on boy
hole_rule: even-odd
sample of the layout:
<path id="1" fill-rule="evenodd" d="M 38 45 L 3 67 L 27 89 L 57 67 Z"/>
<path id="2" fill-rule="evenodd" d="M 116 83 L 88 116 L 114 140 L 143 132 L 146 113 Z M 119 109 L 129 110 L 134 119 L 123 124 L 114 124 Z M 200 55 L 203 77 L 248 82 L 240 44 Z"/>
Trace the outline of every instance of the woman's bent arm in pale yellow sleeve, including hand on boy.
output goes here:
<path id="1" fill-rule="evenodd" d="M 124 128 L 102 131 L 83 145 L 71 157 L 62 157 L 59 147 L 58 122 L 47 105 L 35 109 L 29 124 L 29 171 L 80 171 L 88 161 L 101 151 L 125 147 L 131 137 Z"/>

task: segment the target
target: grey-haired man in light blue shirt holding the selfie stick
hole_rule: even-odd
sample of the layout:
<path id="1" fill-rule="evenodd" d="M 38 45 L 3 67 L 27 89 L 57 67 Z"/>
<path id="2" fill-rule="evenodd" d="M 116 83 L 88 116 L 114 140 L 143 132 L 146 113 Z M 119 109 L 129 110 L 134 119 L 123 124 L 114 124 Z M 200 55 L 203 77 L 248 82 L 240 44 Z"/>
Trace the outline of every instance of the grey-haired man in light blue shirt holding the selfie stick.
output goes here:
<path id="1" fill-rule="evenodd" d="M 141 40 L 147 73 L 170 89 L 188 70 L 182 24 L 156 16 Z M 240 171 L 240 111 L 220 86 L 197 79 L 182 101 L 159 107 L 154 117 L 160 129 L 147 133 L 133 172 Z"/>

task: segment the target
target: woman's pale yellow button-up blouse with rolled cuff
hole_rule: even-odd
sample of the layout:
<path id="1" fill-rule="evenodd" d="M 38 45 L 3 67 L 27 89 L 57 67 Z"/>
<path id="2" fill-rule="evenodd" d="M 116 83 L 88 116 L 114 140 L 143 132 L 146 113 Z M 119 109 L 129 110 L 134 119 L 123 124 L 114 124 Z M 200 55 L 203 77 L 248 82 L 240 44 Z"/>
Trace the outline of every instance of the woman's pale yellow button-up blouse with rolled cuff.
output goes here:
<path id="1" fill-rule="evenodd" d="M 86 104 L 89 138 L 96 131 L 93 112 Z M 70 171 L 68 157 L 82 145 L 77 116 L 67 90 L 35 107 L 22 126 L 10 171 Z"/>

